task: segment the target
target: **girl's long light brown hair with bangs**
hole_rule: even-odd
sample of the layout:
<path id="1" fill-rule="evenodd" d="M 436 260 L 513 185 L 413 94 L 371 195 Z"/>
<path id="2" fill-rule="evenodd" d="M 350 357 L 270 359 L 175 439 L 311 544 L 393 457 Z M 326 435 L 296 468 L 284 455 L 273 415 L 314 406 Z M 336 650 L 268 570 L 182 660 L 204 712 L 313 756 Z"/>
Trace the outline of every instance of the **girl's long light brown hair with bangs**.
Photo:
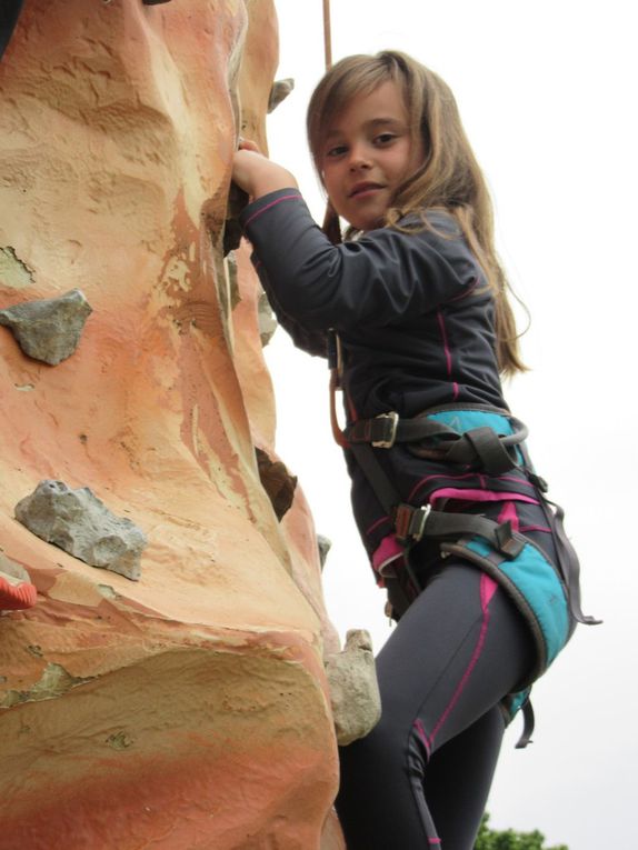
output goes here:
<path id="1" fill-rule="evenodd" d="M 498 364 L 504 374 L 525 371 L 516 321 L 508 300 L 509 283 L 494 247 L 494 212 L 485 177 L 465 133 L 452 92 L 440 77 L 406 53 L 387 50 L 377 56 L 351 56 L 337 62 L 319 82 L 308 106 L 310 152 L 321 177 L 321 151 L 331 121 L 356 97 L 383 82 L 403 93 L 415 142 L 422 141 L 423 162 L 397 189 L 386 226 L 418 213 L 429 227 L 426 210 L 439 208 L 458 221 L 494 293 Z M 341 241 L 339 218 L 328 202 L 323 230 Z"/>

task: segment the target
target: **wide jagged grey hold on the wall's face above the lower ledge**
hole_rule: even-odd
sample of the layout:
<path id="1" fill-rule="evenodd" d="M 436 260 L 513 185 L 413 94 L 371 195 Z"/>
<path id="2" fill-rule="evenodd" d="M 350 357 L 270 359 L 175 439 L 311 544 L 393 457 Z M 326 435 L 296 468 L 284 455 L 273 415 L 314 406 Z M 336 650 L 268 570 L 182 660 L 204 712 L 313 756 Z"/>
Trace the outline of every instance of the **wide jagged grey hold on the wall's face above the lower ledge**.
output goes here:
<path id="1" fill-rule="evenodd" d="M 88 487 L 71 490 L 63 481 L 40 481 L 16 506 L 16 519 L 91 567 L 140 577 L 146 536 L 131 520 L 111 513 Z"/>

